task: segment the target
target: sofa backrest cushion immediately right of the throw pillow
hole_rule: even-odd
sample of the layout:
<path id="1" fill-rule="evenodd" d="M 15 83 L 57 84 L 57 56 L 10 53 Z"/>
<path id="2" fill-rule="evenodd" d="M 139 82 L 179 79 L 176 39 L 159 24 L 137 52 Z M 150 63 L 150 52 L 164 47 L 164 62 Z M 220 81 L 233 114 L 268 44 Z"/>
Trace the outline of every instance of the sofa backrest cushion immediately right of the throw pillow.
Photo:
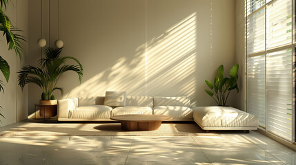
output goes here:
<path id="1" fill-rule="evenodd" d="M 126 106 L 153 108 L 153 98 L 151 96 L 126 96 Z"/>

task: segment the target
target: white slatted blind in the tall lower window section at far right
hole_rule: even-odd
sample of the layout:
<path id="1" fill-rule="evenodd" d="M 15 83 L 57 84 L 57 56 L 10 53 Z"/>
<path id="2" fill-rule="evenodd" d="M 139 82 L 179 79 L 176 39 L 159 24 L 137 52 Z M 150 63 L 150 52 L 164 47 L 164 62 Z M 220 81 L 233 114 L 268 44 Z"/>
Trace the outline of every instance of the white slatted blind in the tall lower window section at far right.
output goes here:
<path id="1" fill-rule="evenodd" d="M 268 131 L 292 140 L 292 50 L 266 56 Z"/>

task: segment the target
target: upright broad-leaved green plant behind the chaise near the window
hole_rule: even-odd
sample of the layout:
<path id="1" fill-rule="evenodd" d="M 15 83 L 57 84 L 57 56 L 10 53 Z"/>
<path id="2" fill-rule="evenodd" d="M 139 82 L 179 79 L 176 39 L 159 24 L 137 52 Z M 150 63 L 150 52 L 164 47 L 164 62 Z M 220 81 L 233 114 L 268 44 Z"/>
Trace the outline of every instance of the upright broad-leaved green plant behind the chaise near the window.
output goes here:
<path id="1" fill-rule="evenodd" d="M 210 81 L 205 80 L 206 85 L 210 88 L 210 90 L 205 89 L 206 93 L 212 97 L 219 106 L 226 106 L 228 96 L 233 89 L 236 89 L 237 92 L 239 92 L 239 87 L 237 86 L 237 80 L 239 77 L 237 75 L 238 69 L 239 65 L 234 65 L 229 72 L 230 78 L 224 78 L 224 66 L 220 65 L 217 69 L 214 83 L 212 84 Z"/>

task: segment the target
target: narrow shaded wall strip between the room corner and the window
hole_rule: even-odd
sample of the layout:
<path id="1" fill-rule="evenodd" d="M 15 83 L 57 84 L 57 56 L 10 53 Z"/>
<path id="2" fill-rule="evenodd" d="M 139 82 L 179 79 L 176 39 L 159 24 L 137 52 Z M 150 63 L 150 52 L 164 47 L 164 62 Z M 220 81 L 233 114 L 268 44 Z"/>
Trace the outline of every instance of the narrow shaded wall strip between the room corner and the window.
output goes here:
<path id="1" fill-rule="evenodd" d="M 239 94 L 235 96 L 235 106 L 241 110 L 246 111 L 246 17 L 244 12 L 244 1 L 235 1 L 235 55 L 236 63 L 239 64 Z"/>

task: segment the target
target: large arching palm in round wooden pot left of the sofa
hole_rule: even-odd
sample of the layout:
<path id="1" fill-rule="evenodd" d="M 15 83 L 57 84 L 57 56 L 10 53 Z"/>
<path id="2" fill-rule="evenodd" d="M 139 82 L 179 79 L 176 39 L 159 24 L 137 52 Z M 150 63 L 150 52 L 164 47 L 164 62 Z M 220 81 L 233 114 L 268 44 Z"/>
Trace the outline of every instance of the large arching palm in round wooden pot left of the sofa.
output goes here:
<path id="1" fill-rule="evenodd" d="M 57 100 L 52 92 L 55 90 L 61 91 L 63 94 L 63 88 L 57 87 L 57 82 L 61 75 L 68 71 L 76 72 L 81 82 L 83 76 L 83 67 L 77 58 L 71 56 L 60 56 L 63 48 L 46 49 L 45 58 L 39 60 L 38 67 L 26 66 L 22 67 L 19 73 L 19 86 L 23 89 L 28 83 L 34 83 L 38 85 L 43 93 L 41 94 L 41 100 L 39 105 L 44 105 L 44 111 L 39 111 L 41 117 L 51 117 L 57 115 L 57 108 L 47 105 L 56 105 Z M 76 65 L 68 65 L 66 62 L 72 60 Z M 46 114 L 45 114 L 46 113 Z"/>

